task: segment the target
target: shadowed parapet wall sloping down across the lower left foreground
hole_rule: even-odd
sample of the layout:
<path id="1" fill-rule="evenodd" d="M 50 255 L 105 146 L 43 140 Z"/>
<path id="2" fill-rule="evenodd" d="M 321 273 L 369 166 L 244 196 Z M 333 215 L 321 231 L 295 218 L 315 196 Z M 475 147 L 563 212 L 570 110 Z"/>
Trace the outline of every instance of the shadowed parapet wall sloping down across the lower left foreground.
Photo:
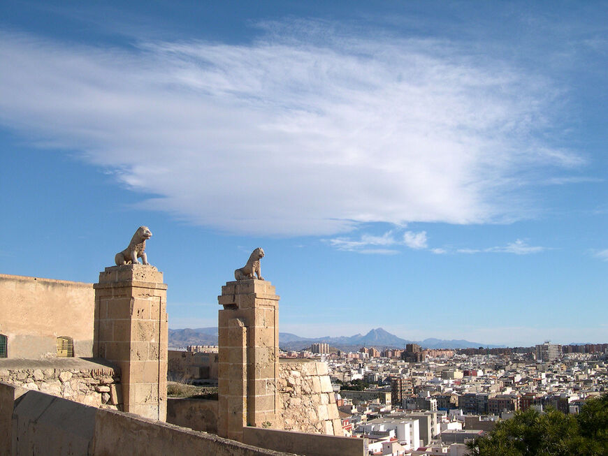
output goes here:
<path id="1" fill-rule="evenodd" d="M 0 454 L 289 456 L 164 422 L 78 404 L 0 382 Z M 8 414 L 10 412 L 10 415 Z M 293 456 L 293 455 L 292 455 Z"/>

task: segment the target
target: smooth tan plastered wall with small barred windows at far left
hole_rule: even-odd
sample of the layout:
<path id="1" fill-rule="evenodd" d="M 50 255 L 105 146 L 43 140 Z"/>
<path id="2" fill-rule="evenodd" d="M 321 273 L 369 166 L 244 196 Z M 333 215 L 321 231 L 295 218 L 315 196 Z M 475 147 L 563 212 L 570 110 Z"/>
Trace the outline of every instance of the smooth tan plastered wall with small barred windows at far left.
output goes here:
<path id="1" fill-rule="evenodd" d="M 74 342 L 74 356 L 93 355 L 93 284 L 0 274 L 0 334 L 8 358 L 57 356 L 57 337 Z"/>

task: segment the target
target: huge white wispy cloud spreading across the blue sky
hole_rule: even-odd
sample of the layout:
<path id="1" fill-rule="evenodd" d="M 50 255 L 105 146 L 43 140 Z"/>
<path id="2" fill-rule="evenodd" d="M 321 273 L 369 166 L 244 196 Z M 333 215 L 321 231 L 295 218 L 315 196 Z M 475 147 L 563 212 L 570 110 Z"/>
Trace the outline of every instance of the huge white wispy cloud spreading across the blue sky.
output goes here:
<path id="1" fill-rule="evenodd" d="M 320 22 L 265 27 L 247 45 L 123 49 L 1 33 L 0 124 L 154 195 L 143 207 L 247 234 L 517 219 L 522 172 L 582 163 L 537 135 L 558 88 L 509 62 Z"/>

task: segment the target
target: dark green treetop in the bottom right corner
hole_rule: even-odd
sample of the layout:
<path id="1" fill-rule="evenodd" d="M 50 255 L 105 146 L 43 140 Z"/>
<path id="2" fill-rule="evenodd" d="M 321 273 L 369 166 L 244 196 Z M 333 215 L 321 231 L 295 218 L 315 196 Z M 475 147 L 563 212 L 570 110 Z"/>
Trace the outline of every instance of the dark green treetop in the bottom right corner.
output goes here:
<path id="1" fill-rule="evenodd" d="M 518 411 L 468 447 L 472 456 L 608 456 L 608 395 L 590 399 L 579 415 Z"/>

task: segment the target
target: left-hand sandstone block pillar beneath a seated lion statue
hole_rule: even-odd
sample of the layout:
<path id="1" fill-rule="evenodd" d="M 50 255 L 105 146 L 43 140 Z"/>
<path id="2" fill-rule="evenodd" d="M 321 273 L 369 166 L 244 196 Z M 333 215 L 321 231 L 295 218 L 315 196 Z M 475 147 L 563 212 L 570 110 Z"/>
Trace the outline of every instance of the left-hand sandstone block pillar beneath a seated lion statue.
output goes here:
<path id="1" fill-rule="evenodd" d="M 165 421 L 167 286 L 150 265 L 106 267 L 95 288 L 94 355 L 120 367 L 122 410 Z"/>

